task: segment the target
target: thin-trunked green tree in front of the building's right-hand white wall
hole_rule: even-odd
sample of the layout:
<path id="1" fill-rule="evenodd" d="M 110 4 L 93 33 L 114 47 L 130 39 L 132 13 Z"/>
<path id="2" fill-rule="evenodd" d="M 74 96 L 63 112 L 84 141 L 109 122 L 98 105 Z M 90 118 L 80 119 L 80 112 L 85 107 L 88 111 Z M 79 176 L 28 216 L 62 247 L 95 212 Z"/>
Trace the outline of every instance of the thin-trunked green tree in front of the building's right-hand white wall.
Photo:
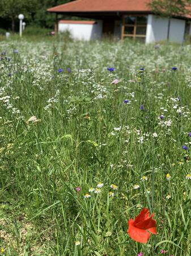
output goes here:
<path id="1" fill-rule="evenodd" d="M 171 18 L 173 16 L 181 17 L 191 13 L 191 0 L 152 0 L 148 6 L 156 15 L 168 18 L 168 35 L 171 26 Z"/>

